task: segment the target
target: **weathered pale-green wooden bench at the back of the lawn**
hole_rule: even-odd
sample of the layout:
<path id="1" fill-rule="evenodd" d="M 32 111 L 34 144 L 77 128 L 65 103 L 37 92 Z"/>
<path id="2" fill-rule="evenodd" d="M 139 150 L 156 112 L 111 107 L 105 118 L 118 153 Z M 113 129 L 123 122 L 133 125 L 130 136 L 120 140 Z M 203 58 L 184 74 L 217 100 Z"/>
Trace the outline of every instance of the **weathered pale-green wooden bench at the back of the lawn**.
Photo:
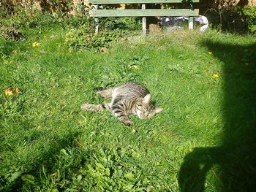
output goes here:
<path id="1" fill-rule="evenodd" d="M 189 29 L 193 29 L 195 16 L 199 15 L 199 9 L 193 8 L 193 3 L 199 0 L 89 0 L 94 9 L 89 12 L 95 18 L 98 32 L 98 18 L 103 17 L 143 17 L 143 34 L 146 34 L 146 17 L 184 16 L 189 17 Z M 99 5 L 106 4 L 141 4 L 141 9 L 98 9 Z M 146 9 L 146 4 L 187 4 L 187 9 Z"/>

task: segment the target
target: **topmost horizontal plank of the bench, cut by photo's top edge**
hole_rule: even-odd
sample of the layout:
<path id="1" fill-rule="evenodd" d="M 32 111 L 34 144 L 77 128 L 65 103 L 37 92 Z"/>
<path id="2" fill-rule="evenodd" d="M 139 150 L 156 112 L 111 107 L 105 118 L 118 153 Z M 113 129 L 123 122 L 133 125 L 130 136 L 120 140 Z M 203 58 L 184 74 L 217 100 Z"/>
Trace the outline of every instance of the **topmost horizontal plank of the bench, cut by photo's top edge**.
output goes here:
<path id="1" fill-rule="evenodd" d="M 191 0 L 199 3 L 200 0 Z M 186 3 L 190 0 L 89 0 L 91 4 L 160 4 L 160 3 Z"/>

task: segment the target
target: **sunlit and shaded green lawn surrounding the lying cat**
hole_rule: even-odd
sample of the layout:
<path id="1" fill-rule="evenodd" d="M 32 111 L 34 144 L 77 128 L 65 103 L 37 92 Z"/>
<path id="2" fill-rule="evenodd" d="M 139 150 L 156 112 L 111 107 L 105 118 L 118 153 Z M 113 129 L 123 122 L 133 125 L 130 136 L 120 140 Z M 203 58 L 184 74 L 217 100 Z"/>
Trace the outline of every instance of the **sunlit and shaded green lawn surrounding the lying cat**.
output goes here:
<path id="1" fill-rule="evenodd" d="M 179 31 L 69 53 L 66 32 L 0 39 L 0 91 L 20 89 L 0 95 L 0 191 L 253 189 L 254 37 Z M 133 127 L 80 110 L 130 80 L 165 110 Z"/>

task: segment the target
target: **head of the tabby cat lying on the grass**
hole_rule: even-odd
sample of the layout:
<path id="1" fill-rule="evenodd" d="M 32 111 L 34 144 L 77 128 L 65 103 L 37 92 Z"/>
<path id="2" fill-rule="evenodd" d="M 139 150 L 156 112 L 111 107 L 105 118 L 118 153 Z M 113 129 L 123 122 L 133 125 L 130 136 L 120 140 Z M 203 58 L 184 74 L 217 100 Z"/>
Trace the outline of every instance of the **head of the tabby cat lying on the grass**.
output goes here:
<path id="1" fill-rule="evenodd" d="M 136 114 L 140 119 L 153 118 L 157 113 L 163 109 L 160 107 L 154 107 L 150 102 L 151 94 L 147 94 L 143 99 L 136 103 Z"/>

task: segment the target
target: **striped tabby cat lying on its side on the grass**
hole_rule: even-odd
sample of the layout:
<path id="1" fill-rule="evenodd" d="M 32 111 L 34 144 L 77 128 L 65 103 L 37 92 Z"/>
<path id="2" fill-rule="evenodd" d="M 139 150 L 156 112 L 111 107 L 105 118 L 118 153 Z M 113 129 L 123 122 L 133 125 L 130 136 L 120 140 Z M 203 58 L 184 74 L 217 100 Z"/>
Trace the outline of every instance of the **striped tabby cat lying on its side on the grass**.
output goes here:
<path id="1" fill-rule="evenodd" d="M 151 104 L 151 94 L 146 88 L 138 82 L 126 82 L 117 87 L 105 88 L 97 91 L 99 96 L 105 99 L 112 99 L 106 104 L 83 104 L 81 110 L 97 111 L 111 110 L 113 114 L 121 120 L 126 126 L 133 126 L 132 120 L 128 115 L 138 115 L 138 118 L 153 118 L 158 112 L 162 111 L 160 107 L 154 107 Z"/>

